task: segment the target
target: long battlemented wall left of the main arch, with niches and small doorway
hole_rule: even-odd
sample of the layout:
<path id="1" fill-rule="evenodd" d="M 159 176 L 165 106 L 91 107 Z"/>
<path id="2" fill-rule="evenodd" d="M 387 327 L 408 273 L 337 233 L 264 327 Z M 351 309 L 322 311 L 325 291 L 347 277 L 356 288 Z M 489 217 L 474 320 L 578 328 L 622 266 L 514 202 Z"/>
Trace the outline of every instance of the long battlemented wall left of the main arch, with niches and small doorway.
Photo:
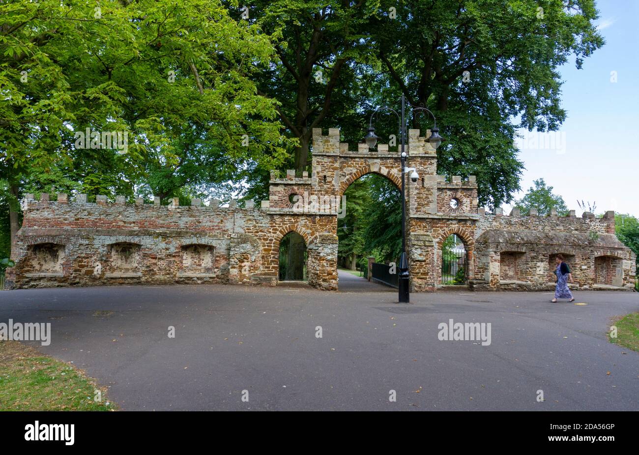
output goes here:
<path id="1" fill-rule="evenodd" d="M 295 230 L 309 247 L 309 281 L 337 288 L 334 216 L 258 209 L 116 202 L 26 200 L 12 257 L 15 287 L 137 283 L 275 285 L 281 237 Z M 215 205 L 215 204 L 213 204 Z M 321 235 L 319 235 L 321 234 Z M 329 237 L 332 234 L 328 234 Z M 315 244 L 317 242 L 317 244 Z M 337 241 L 335 241 L 336 248 Z M 327 252 L 328 251 L 328 252 Z"/>

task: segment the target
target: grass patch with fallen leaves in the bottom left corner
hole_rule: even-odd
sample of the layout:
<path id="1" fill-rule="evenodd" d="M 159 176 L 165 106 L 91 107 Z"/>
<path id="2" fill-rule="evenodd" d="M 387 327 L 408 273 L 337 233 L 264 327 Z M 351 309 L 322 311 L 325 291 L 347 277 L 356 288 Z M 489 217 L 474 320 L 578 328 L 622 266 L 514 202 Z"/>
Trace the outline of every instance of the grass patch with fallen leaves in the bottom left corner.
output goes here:
<path id="1" fill-rule="evenodd" d="M 80 369 L 18 341 L 0 341 L 0 411 L 114 410 L 106 392 Z"/>

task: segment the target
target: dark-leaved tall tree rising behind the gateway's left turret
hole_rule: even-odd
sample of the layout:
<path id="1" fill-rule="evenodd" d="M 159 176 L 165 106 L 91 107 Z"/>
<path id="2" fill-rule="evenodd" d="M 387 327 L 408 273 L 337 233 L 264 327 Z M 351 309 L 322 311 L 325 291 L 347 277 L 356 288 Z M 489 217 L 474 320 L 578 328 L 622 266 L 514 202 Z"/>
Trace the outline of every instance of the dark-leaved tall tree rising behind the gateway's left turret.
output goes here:
<path id="1" fill-rule="evenodd" d="M 366 55 L 362 33 L 376 6 L 364 1 L 252 2 L 249 20 L 273 38 L 277 52 L 259 78 L 259 90 L 277 100 L 286 134 L 298 141 L 297 172 L 307 169 L 313 128 L 348 123 L 361 128 L 359 120 L 353 121 L 366 96 L 357 62 Z"/>

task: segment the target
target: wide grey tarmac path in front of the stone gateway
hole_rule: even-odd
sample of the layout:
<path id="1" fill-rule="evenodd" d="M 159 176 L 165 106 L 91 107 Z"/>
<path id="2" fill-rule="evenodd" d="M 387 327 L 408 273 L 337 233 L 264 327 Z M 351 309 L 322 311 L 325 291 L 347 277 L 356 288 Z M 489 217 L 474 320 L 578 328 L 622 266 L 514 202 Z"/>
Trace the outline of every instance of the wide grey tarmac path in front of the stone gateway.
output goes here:
<path id="1" fill-rule="evenodd" d="M 50 322 L 50 345 L 29 344 L 86 369 L 123 410 L 639 410 L 639 353 L 606 340 L 612 317 L 639 311 L 638 293 L 576 292 L 578 306 L 458 290 L 397 304 L 395 290 L 353 278 L 341 292 L 6 291 L 0 322 Z M 491 344 L 440 341 L 451 318 L 491 323 Z"/>

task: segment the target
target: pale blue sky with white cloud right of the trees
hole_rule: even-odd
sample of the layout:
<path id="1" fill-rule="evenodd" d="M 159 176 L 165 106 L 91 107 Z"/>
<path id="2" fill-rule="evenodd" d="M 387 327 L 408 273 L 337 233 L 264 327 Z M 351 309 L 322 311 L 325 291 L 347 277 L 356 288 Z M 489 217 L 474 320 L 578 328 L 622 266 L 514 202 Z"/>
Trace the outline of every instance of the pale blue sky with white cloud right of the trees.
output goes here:
<path id="1" fill-rule="evenodd" d="M 561 68 L 566 121 L 552 137 L 558 140 L 553 149 L 539 148 L 527 131 L 520 140 L 526 170 L 516 197 L 543 177 L 578 216 L 576 200 L 583 199 L 596 201 L 597 213 L 639 217 L 639 0 L 599 0 L 597 9 L 606 44 L 581 70 L 574 58 Z M 611 82 L 612 71 L 617 82 Z"/>

